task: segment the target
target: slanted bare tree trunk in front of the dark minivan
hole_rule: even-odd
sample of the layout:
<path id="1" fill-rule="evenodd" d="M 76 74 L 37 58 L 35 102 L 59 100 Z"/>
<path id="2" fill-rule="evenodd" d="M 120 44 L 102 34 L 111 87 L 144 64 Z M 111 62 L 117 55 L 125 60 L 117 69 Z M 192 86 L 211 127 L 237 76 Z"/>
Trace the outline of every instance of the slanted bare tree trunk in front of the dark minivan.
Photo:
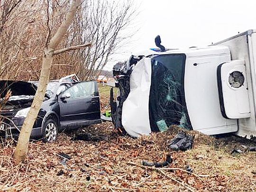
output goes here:
<path id="1" fill-rule="evenodd" d="M 60 25 L 55 35 L 47 43 L 43 61 L 42 69 L 40 73 L 39 83 L 37 87 L 37 92 L 32 102 L 31 108 L 27 114 L 27 117 L 22 125 L 19 137 L 18 144 L 14 151 L 14 158 L 20 162 L 26 159 L 28 142 L 30 134 L 37 118 L 38 112 L 41 108 L 42 102 L 46 93 L 46 86 L 49 82 L 49 76 L 52 66 L 53 57 L 55 55 L 54 51 L 58 44 L 61 42 L 64 34 L 66 33 L 68 27 L 73 21 L 77 7 L 80 5 L 80 0 L 73 0 L 69 11 L 67 12 L 66 19 Z M 81 47 L 82 48 L 82 47 Z"/>

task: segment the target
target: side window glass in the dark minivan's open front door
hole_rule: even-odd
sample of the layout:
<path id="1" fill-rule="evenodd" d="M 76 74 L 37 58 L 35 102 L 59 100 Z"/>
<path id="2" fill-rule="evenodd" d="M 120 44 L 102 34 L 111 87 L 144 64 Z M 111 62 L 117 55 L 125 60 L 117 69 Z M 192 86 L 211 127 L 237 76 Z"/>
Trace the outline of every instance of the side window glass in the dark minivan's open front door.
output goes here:
<path id="1" fill-rule="evenodd" d="M 77 83 L 67 89 L 65 92 L 70 93 L 71 98 L 73 99 L 92 97 L 94 96 L 95 85 L 94 82 Z"/>

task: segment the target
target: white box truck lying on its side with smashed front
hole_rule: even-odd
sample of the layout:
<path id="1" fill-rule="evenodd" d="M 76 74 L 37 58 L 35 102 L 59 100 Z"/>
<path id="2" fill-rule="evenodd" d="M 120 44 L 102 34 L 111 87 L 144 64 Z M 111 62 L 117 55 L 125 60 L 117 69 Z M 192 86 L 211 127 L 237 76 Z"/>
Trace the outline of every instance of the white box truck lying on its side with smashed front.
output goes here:
<path id="1" fill-rule="evenodd" d="M 204 134 L 234 132 L 256 139 L 256 30 L 207 47 L 132 55 L 113 68 L 112 121 L 123 134 L 180 125 Z"/>

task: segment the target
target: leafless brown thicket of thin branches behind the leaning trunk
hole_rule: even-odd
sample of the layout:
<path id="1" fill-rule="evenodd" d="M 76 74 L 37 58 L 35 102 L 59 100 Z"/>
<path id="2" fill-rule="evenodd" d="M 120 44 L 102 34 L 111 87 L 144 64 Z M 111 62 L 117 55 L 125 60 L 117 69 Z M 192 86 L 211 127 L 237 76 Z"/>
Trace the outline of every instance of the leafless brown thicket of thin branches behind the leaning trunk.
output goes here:
<path id="1" fill-rule="evenodd" d="M 48 31 L 56 31 L 63 22 L 70 0 L 48 0 L 49 3 L 47 0 L 2 0 L 0 15 L 10 10 L 7 4 L 2 6 L 4 1 L 13 2 L 8 5 L 19 3 L 5 16 L 0 33 L 0 79 L 38 80 L 44 54 L 42 44 L 45 44 Z M 129 27 L 134 25 L 132 21 L 136 15 L 132 0 L 83 0 L 58 47 L 87 41 L 92 46 L 57 55 L 50 78 L 76 73 L 81 79 L 94 79 L 111 55 L 135 32 Z"/>

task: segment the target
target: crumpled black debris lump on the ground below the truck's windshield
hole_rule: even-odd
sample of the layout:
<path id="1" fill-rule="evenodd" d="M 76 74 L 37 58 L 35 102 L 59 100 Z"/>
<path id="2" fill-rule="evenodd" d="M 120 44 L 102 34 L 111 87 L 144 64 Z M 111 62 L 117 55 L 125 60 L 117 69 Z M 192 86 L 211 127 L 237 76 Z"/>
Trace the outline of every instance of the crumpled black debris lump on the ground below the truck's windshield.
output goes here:
<path id="1" fill-rule="evenodd" d="M 190 150 L 193 146 L 193 137 L 185 132 L 180 132 L 168 144 L 168 147 L 173 150 Z"/>

